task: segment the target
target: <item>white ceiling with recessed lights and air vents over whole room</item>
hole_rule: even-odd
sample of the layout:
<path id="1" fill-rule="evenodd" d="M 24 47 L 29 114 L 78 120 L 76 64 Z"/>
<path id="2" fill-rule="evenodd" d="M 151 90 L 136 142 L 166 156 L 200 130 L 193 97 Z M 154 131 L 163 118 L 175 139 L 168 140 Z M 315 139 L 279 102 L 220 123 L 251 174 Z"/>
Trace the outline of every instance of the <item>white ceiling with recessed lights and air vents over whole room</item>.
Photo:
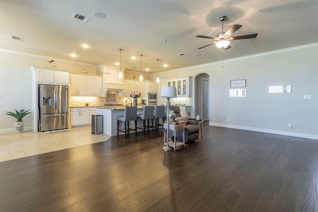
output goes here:
<path id="1" fill-rule="evenodd" d="M 121 48 L 122 67 L 140 72 L 143 54 L 143 73 L 156 73 L 156 59 L 160 72 L 316 43 L 317 14 L 318 0 L 0 0 L 0 48 L 96 65 L 119 62 Z M 234 36 L 258 36 L 231 41 L 222 53 L 215 45 L 198 50 L 212 40 L 195 36 L 221 32 L 221 15 L 228 16 L 224 31 L 240 24 Z"/>

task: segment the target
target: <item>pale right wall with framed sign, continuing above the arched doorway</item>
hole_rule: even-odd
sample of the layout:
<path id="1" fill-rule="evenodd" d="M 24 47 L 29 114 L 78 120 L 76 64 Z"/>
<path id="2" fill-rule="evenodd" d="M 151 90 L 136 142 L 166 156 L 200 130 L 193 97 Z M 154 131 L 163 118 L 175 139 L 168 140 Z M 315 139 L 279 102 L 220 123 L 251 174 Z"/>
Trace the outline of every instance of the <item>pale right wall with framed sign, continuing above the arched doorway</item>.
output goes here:
<path id="1" fill-rule="evenodd" d="M 224 68 L 218 62 L 159 73 L 159 77 L 209 74 L 210 125 L 318 139 L 317 52 L 316 43 L 226 60 Z M 230 98 L 230 81 L 241 79 L 246 79 L 246 98 Z M 268 86 L 289 84 L 291 94 L 268 93 Z"/>

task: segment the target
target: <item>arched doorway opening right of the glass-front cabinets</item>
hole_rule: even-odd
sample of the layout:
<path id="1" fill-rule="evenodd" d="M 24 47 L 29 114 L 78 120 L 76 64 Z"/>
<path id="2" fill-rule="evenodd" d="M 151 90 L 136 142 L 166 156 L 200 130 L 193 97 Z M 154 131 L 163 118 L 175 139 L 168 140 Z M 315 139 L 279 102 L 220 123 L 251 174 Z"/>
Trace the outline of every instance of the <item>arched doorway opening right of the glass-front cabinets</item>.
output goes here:
<path id="1" fill-rule="evenodd" d="M 195 77 L 195 115 L 199 115 L 202 120 L 209 119 L 209 78 L 210 76 L 205 73 L 199 74 Z"/>

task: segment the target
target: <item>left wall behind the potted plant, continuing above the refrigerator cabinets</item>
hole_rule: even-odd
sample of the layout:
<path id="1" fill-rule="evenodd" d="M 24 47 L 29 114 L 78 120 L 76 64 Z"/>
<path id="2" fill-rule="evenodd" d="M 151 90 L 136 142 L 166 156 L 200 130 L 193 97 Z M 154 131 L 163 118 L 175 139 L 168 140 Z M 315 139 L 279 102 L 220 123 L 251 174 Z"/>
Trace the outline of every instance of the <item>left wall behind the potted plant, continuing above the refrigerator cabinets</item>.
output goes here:
<path id="1" fill-rule="evenodd" d="M 99 66 L 59 60 L 0 49 L 0 133 L 14 131 L 12 116 L 5 111 L 30 109 L 32 111 L 32 71 L 30 66 L 46 66 L 48 60 L 55 60 L 57 68 L 74 73 L 86 69 L 87 74 L 99 74 Z M 32 130 L 33 114 L 24 117 L 25 130 Z"/>

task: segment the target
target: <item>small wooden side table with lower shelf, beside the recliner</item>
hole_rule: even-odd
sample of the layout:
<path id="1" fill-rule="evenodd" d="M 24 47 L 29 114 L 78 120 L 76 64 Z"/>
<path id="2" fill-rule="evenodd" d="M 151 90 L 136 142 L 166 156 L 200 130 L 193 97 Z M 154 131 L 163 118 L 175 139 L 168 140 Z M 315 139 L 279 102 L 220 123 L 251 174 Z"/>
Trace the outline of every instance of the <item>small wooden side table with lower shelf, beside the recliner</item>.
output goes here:
<path id="1" fill-rule="evenodd" d="M 169 130 L 171 130 L 173 132 L 173 136 L 174 136 L 173 141 L 166 140 L 167 136 L 165 133 L 168 133 L 167 126 L 168 126 L 168 124 L 165 121 L 165 123 L 163 123 L 163 128 L 164 128 L 163 147 L 168 145 L 168 146 L 173 148 L 173 151 L 175 150 L 176 147 L 179 147 L 179 146 L 185 147 L 185 130 L 184 130 L 185 123 L 176 124 L 175 122 L 169 122 Z M 182 133 L 183 133 L 183 142 L 176 140 L 176 138 L 177 138 L 176 131 L 180 131 L 180 130 L 182 130 Z"/>

